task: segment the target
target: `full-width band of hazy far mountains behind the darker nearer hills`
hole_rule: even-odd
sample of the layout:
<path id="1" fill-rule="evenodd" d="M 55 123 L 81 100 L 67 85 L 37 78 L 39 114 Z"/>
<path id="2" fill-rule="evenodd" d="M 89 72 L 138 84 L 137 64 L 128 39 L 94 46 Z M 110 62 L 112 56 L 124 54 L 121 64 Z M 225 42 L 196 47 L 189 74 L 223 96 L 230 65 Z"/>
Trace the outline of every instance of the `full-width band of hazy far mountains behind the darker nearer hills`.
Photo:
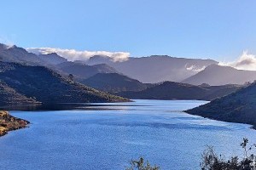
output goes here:
<path id="1" fill-rule="evenodd" d="M 166 55 L 130 58 L 119 62 L 108 56 L 96 55 L 87 61 L 67 61 L 58 54 L 32 54 L 24 48 L 0 44 L 0 60 L 25 65 L 44 65 L 63 75 L 86 79 L 97 73 L 119 73 L 140 82 L 184 82 L 212 86 L 244 84 L 256 79 L 256 71 L 240 71 L 217 65 L 212 59 L 183 59 Z"/>

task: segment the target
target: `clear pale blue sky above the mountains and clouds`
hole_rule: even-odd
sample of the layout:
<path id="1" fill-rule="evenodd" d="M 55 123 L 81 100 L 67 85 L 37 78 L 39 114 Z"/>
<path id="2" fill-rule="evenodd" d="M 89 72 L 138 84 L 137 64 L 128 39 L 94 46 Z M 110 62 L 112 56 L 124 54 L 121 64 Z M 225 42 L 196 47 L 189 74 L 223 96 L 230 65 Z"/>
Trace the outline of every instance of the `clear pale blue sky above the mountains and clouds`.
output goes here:
<path id="1" fill-rule="evenodd" d="M 8 0 L 0 40 L 24 48 L 232 60 L 256 54 L 255 0 Z"/>

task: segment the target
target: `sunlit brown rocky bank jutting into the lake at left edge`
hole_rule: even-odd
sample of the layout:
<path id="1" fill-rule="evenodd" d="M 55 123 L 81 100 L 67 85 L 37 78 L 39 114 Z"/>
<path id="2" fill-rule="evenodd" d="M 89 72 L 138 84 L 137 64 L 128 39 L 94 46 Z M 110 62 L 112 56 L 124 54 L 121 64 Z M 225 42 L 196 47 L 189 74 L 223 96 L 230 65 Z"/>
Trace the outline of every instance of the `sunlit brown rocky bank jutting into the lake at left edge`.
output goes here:
<path id="1" fill-rule="evenodd" d="M 0 137 L 9 131 L 25 128 L 30 122 L 11 116 L 8 111 L 0 111 Z"/>

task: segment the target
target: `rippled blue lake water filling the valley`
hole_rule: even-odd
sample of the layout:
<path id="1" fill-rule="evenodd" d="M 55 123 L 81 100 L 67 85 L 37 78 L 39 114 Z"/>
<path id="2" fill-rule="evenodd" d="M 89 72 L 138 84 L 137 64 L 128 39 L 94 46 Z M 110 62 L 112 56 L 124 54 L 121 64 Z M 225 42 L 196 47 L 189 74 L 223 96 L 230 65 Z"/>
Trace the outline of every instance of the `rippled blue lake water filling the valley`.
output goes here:
<path id="1" fill-rule="evenodd" d="M 32 124 L 0 138 L 0 168 L 125 169 L 143 156 L 161 169 L 200 169 L 207 144 L 229 157 L 242 153 L 242 137 L 256 141 L 248 125 L 182 112 L 205 103 L 136 100 L 85 111 L 11 111 Z"/>

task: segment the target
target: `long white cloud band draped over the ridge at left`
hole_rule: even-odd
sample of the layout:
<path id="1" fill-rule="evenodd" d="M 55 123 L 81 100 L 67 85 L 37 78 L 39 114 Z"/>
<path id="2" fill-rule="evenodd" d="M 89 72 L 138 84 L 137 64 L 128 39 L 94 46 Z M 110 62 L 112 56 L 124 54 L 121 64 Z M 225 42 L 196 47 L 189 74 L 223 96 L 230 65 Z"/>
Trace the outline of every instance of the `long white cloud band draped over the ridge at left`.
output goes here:
<path id="1" fill-rule="evenodd" d="M 87 60 L 94 55 L 108 56 L 113 61 L 125 61 L 129 58 L 130 53 L 126 52 L 108 52 L 108 51 L 77 51 L 75 49 L 61 48 L 26 48 L 28 52 L 33 54 L 51 54 L 56 53 L 67 60 Z"/>

